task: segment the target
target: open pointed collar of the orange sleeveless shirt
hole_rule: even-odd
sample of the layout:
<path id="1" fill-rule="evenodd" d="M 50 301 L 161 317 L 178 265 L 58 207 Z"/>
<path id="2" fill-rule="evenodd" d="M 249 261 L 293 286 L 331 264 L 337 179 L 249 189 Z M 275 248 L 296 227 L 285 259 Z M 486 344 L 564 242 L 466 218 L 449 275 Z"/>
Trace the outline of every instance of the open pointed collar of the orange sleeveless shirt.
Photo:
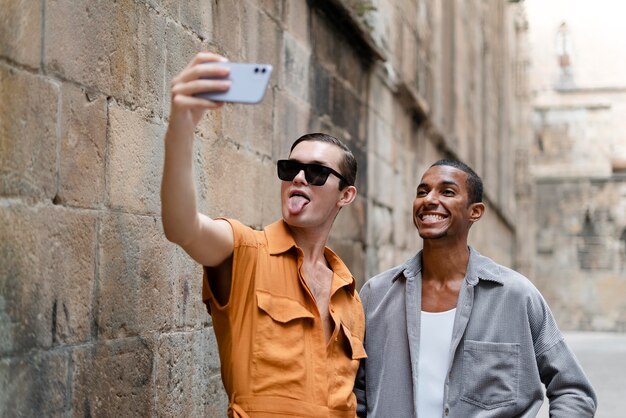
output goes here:
<path id="1" fill-rule="evenodd" d="M 266 226 L 265 236 L 267 237 L 267 247 L 270 255 L 279 255 L 286 253 L 292 248 L 298 248 L 291 234 L 291 230 L 284 219 L 280 219 Z M 324 248 L 324 256 L 328 264 L 330 264 L 331 270 L 335 273 L 334 276 L 339 278 L 339 283 L 337 284 L 335 284 L 335 280 L 333 280 L 331 294 L 339 287 L 348 286 L 350 293 L 354 295 L 354 292 L 356 292 L 356 281 L 348 267 L 341 258 L 328 247 Z"/>

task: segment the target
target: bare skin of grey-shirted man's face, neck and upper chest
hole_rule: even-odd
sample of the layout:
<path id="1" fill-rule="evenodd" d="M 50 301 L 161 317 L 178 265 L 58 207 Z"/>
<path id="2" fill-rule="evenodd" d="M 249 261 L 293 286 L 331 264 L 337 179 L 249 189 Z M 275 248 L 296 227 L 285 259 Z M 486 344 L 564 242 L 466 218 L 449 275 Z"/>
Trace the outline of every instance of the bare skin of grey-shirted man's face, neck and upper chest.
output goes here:
<path id="1" fill-rule="evenodd" d="M 413 222 L 424 240 L 423 311 L 456 307 L 469 262 L 469 229 L 484 211 L 483 203 L 469 203 L 464 171 L 435 166 L 424 173 L 413 203 Z"/>

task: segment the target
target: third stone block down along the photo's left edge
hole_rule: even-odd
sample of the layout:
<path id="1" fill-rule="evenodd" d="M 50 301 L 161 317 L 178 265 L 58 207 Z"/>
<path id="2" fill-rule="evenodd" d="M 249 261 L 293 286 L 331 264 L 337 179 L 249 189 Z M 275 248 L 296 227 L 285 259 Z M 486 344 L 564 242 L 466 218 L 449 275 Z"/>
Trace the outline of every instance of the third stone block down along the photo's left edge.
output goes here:
<path id="1" fill-rule="evenodd" d="M 51 203 L 0 211 L 0 355 L 91 338 L 96 213 Z"/>

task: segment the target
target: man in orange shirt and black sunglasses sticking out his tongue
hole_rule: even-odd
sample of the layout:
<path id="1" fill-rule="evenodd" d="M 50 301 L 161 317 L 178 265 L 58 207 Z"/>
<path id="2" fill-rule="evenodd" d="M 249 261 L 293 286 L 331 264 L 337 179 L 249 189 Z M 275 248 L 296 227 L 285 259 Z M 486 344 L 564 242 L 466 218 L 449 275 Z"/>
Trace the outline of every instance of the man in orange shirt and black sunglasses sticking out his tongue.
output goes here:
<path id="1" fill-rule="evenodd" d="M 222 104 L 194 95 L 229 88 L 228 70 L 198 54 L 172 81 L 161 186 L 166 237 L 205 266 L 231 417 L 354 417 L 363 309 L 348 268 L 326 241 L 356 197 L 356 160 L 339 140 L 309 134 L 277 163 L 282 219 L 255 231 L 198 213 L 194 131 Z M 235 174 L 235 173 L 233 173 Z"/>

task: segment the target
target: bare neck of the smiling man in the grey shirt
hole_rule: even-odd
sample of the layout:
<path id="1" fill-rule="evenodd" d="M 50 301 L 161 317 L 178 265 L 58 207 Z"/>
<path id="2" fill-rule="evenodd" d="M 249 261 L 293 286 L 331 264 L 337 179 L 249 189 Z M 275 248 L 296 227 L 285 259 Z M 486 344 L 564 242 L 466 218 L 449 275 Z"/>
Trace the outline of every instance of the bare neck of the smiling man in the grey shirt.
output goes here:
<path id="1" fill-rule="evenodd" d="M 469 248 L 467 241 L 458 245 L 425 240 L 422 251 L 422 278 L 448 282 L 463 280 L 469 263 Z"/>

